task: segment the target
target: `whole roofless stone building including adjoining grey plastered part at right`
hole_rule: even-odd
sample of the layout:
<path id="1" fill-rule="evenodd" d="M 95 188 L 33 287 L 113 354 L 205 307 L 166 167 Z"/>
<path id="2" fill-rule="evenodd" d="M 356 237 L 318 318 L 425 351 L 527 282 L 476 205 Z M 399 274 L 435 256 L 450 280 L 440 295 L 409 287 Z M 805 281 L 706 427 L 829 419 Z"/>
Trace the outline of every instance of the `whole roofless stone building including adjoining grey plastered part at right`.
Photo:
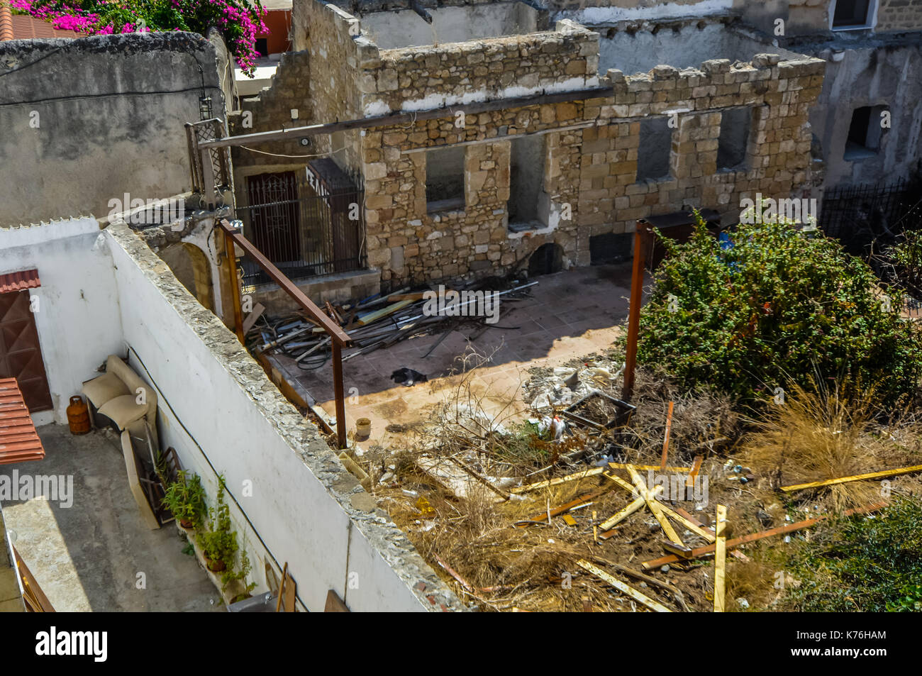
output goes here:
<path id="1" fill-rule="evenodd" d="M 232 133 L 365 122 L 235 148 L 244 222 L 249 184 L 328 154 L 363 187 L 361 255 L 395 287 L 545 245 L 538 269 L 617 259 L 636 219 L 728 224 L 743 198 L 822 200 L 918 160 L 922 2 L 587 5 L 296 0 L 296 51 Z"/>

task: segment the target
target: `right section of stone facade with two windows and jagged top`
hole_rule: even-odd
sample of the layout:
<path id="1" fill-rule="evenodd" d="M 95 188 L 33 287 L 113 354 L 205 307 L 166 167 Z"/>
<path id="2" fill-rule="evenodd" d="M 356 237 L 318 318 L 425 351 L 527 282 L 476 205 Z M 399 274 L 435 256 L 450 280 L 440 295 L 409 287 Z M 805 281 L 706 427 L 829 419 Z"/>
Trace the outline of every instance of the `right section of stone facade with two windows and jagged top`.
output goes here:
<path id="1" fill-rule="evenodd" d="M 585 106 L 585 118 L 598 126 L 583 131 L 580 222 L 596 235 L 632 231 L 636 219 L 686 207 L 716 208 L 733 219 L 742 197 L 797 191 L 808 179 L 808 112 L 824 64 L 779 59 L 759 54 L 749 64 L 719 59 L 682 71 L 660 65 L 632 77 L 609 71 L 614 98 Z M 739 106 L 752 115 L 745 164 L 718 171 L 722 111 Z M 664 114 L 675 125 L 670 176 L 637 183 L 639 120 Z M 585 252 L 577 253 L 583 262 Z"/>

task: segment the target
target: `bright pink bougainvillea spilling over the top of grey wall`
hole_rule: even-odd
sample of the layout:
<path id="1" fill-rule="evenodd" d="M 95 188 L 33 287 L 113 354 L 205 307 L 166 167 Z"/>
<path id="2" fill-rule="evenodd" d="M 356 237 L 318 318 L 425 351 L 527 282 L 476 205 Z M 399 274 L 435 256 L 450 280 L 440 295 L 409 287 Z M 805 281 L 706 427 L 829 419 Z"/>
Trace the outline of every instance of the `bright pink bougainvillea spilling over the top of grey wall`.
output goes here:
<path id="1" fill-rule="evenodd" d="M 21 14 L 50 21 L 59 30 L 89 35 L 218 29 L 237 64 L 252 75 L 256 35 L 266 33 L 259 0 L 10 0 Z"/>

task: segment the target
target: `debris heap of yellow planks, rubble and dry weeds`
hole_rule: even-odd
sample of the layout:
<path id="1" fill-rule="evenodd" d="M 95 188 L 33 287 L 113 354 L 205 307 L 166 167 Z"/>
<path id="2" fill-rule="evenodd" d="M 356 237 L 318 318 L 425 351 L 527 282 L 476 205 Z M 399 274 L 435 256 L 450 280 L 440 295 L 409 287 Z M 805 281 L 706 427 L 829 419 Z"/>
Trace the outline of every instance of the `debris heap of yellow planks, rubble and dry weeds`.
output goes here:
<path id="1" fill-rule="evenodd" d="M 835 486 L 903 477 L 900 490 L 915 490 L 922 472 L 905 462 L 798 485 L 749 455 L 759 426 L 713 393 L 680 396 L 641 370 L 633 405 L 622 402 L 616 356 L 535 369 L 524 420 L 487 415 L 469 387 L 487 361 L 461 360 L 457 392 L 406 448 L 361 456 L 379 504 L 481 610 L 763 610 L 740 582 L 767 570 L 751 558 L 760 543 L 802 542 L 833 516 L 887 504 L 839 510 Z M 917 454 L 872 457 L 894 467 Z"/>

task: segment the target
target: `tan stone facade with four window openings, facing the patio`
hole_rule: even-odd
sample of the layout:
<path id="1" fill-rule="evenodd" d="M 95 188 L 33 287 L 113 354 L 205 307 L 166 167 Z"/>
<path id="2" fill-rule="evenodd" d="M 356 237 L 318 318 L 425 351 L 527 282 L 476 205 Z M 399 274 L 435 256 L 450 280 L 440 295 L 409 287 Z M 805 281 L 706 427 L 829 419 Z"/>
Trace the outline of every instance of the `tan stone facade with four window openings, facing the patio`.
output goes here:
<path id="1" fill-rule="evenodd" d="M 636 219 L 687 207 L 733 219 L 742 197 L 790 196 L 809 183 L 807 115 L 823 62 L 780 58 L 657 66 L 632 77 L 610 71 L 609 98 L 471 113 L 461 127 L 446 117 L 374 129 L 363 138 L 369 262 L 385 285 L 495 274 L 549 242 L 570 264 L 587 265 L 590 236 L 632 231 Z M 718 172 L 722 111 L 739 107 L 751 109 L 746 163 Z M 673 111 L 671 175 L 638 183 L 640 121 Z M 550 218 L 544 228 L 510 232 L 509 143 L 535 133 L 547 134 Z M 428 213 L 424 148 L 455 144 L 466 147 L 466 206 Z"/>

